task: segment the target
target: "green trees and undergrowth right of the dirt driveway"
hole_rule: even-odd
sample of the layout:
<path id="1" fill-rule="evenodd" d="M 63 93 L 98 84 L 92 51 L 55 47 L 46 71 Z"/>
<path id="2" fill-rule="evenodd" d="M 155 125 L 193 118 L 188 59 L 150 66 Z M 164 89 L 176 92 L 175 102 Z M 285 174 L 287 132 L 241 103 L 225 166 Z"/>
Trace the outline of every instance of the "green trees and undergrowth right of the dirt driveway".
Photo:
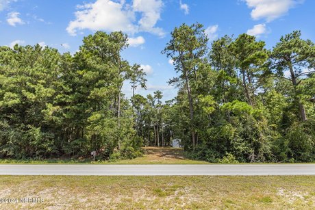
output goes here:
<path id="1" fill-rule="evenodd" d="M 175 28 L 173 35 L 179 30 L 189 34 L 191 28 Z M 299 31 L 283 36 L 272 52 L 254 36 L 224 36 L 212 42 L 207 62 L 194 60 L 195 68 L 188 68 L 190 90 L 185 75 L 171 80 L 179 88 L 168 109 L 175 116 L 172 131 L 188 157 L 220 163 L 314 161 L 314 73 L 302 69 L 314 66 L 314 43 L 300 36 Z M 175 47 L 185 49 L 180 37 L 166 45 L 167 55 L 177 59 L 177 71 L 189 57 L 180 60 L 176 54 L 180 50 Z M 283 78 L 283 71 L 291 69 L 293 76 Z"/>

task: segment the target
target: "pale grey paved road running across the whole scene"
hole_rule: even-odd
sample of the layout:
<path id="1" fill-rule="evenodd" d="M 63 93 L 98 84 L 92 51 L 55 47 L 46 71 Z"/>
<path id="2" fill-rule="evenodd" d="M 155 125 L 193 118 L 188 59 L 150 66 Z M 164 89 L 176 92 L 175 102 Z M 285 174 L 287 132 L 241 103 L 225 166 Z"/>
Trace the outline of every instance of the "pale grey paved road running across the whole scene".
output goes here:
<path id="1" fill-rule="evenodd" d="M 315 164 L 239 165 L 0 165 L 0 175 L 315 175 Z"/>

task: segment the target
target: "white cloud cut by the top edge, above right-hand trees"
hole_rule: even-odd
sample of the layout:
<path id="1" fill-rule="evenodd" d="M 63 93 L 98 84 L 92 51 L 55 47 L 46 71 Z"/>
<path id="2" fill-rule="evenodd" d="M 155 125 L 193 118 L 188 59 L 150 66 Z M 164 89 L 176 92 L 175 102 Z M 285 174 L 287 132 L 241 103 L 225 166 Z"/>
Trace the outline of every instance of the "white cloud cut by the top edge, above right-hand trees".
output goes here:
<path id="1" fill-rule="evenodd" d="M 270 22 L 286 14 L 290 8 L 303 0 L 243 0 L 246 1 L 254 20 L 266 19 Z"/>

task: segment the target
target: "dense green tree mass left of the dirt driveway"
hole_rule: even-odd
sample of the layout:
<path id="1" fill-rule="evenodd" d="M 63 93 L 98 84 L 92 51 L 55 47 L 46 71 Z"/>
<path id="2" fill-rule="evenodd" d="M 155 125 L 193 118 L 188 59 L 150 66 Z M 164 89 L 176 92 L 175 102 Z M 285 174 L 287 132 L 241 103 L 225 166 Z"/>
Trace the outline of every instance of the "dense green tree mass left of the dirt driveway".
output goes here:
<path id="1" fill-rule="evenodd" d="M 133 68 L 120 55 L 127 36 L 97 31 L 83 42 L 75 55 L 38 44 L 0 47 L 1 157 L 139 155 L 132 110 L 121 93 L 123 81 L 134 78 L 126 76 Z M 137 75 L 145 74 L 137 68 Z"/>

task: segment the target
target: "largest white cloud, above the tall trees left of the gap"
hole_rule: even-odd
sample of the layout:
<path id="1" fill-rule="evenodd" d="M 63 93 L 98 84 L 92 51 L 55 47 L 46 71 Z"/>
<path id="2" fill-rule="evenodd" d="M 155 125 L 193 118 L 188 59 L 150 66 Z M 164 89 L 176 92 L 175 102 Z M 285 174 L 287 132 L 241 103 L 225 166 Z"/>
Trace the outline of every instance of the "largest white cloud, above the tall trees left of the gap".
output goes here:
<path id="1" fill-rule="evenodd" d="M 134 0 L 133 5 L 123 0 L 97 0 L 95 3 L 78 5 L 75 21 L 68 24 L 66 31 L 72 36 L 81 29 L 124 31 L 129 34 L 147 31 L 164 36 L 163 29 L 155 27 L 160 20 L 162 5 L 161 0 Z M 137 12 L 141 14 L 138 22 Z"/>

